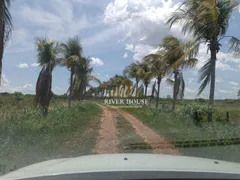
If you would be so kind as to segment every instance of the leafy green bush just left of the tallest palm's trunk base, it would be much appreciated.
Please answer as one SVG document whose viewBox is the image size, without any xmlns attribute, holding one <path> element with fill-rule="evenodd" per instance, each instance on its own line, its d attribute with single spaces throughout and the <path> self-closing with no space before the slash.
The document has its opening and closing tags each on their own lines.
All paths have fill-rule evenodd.
<svg viewBox="0 0 240 180">
<path fill-rule="evenodd" d="M 197 103 L 188 103 L 180 109 L 180 113 L 191 117 L 196 125 L 205 120 L 207 112 L 208 106 Z"/>
</svg>

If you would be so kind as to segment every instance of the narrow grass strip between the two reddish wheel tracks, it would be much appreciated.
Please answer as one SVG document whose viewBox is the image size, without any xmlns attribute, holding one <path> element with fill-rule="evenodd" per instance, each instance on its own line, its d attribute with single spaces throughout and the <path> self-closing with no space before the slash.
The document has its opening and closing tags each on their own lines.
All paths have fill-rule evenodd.
<svg viewBox="0 0 240 180">
<path fill-rule="evenodd" d="M 118 149 L 121 153 L 151 153 L 144 140 L 136 134 L 132 125 L 121 115 L 117 114 Z M 148 149 L 146 149 L 148 148 Z"/>
</svg>

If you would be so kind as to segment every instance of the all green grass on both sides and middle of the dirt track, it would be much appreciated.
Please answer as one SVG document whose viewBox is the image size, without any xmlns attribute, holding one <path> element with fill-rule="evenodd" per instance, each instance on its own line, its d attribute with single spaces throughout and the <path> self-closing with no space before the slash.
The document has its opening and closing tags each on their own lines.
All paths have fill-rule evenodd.
<svg viewBox="0 0 240 180">
<path fill-rule="evenodd" d="M 30 95 L 0 95 L 0 170 L 5 173 L 16 165 L 20 168 L 32 163 L 62 157 L 92 154 L 100 124 L 100 108 L 94 103 L 103 100 L 74 102 L 67 107 L 66 97 L 55 96 L 44 118 L 34 106 Z M 151 102 L 154 106 L 154 102 Z M 158 110 L 154 108 L 126 108 L 144 124 L 171 142 L 240 138 L 240 102 L 223 100 L 215 102 L 214 122 L 195 125 L 181 109 L 194 103 L 206 106 L 207 102 L 185 100 L 177 103 L 176 113 L 171 113 L 169 100 Z M 194 105 L 194 106 L 195 106 Z M 225 113 L 230 113 L 226 122 Z M 220 117 L 220 118 L 219 118 Z M 206 117 L 204 117 L 206 118 Z M 118 149 L 121 153 L 149 153 L 151 149 L 128 149 L 132 143 L 144 145 L 129 122 L 121 114 L 116 116 Z M 147 145 L 146 145 L 147 146 Z M 240 162 L 240 145 L 179 148 L 183 155 Z"/>
</svg>

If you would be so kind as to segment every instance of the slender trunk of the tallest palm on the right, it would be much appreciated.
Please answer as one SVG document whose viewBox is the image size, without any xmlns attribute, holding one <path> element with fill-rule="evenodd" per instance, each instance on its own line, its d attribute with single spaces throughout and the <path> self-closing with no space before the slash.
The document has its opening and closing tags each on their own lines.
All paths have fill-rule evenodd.
<svg viewBox="0 0 240 180">
<path fill-rule="evenodd" d="M 217 43 L 213 43 L 211 49 L 211 82 L 210 82 L 210 94 L 209 94 L 209 107 L 212 108 L 214 103 L 214 92 L 215 92 L 215 77 L 216 77 L 216 60 L 217 60 Z M 212 113 L 208 113 L 208 121 L 212 121 Z"/>
</svg>

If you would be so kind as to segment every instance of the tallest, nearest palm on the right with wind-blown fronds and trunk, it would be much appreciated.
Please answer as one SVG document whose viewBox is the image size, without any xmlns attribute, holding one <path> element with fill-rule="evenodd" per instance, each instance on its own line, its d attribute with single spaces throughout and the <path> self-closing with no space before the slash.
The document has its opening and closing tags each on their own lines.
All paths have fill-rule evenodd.
<svg viewBox="0 0 240 180">
<path fill-rule="evenodd" d="M 198 43 L 205 42 L 211 52 L 210 59 L 200 69 L 199 81 L 202 82 L 199 94 L 210 83 L 209 105 L 212 107 L 215 92 L 215 71 L 217 53 L 220 42 L 230 38 L 230 49 L 235 55 L 240 53 L 240 40 L 233 36 L 226 36 L 229 20 L 234 10 L 239 7 L 238 0 L 185 0 L 168 20 L 170 27 L 175 23 L 182 24 L 182 31 L 193 34 Z M 212 114 L 209 114 L 212 121 Z"/>
</svg>

